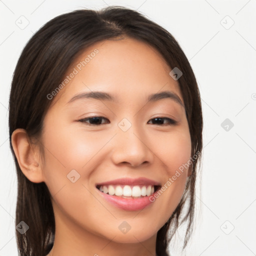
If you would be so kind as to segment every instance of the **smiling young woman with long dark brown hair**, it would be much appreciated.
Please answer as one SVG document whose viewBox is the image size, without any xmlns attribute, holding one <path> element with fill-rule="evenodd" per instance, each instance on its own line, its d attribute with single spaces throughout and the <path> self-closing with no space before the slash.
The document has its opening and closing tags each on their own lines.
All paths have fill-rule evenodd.
<svg viewBox="0 0 256 256">
<path fill-rule="evenodd" d="M 47 22 L 16 65 L 9 134 L 20 255 L 169 255 L 185 220 L 186 246 L 201 104 L 161 26 L 119 6 Z"/>
</svg>

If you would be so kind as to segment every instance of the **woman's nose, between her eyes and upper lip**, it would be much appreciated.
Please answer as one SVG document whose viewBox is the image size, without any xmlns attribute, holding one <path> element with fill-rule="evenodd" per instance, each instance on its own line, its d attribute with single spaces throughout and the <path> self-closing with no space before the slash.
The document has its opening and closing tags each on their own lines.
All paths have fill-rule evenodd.
<svg viewBox="0 0 256 256">
<path fill-rule="evenodd" d="M 127 131 L 118 130 L 113 143 L 111 159 L 114 164 L 127 164 L 137 167 L 153 161 L 148 136 L 132 125 Z"/>
</svg>

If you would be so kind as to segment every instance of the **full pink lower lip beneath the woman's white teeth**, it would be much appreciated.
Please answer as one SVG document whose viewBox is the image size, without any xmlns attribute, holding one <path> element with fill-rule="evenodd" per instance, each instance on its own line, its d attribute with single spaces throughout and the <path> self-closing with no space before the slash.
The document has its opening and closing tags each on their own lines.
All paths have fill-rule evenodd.
<svg viewBox="0 0 256 256">
<path fill-rule="evenodd" d="M 149 205 L 150 203 L 152 203 L 149 200 L 149 196 L 144 196 L 141 198 L 122 198 L 122 197 L 116 196 L 116 195 L 105 194 L 99 190 L 98 190 L 98 192 L 108 202 L 112 203 L 114 206 L 116 206 L 120 209 L 123 209 L 123 210 L 141 210 L 141 209 L 145 208 L 147 205 Z M 150 196 L 153 196 L 153 194 Z"/>
</svg>

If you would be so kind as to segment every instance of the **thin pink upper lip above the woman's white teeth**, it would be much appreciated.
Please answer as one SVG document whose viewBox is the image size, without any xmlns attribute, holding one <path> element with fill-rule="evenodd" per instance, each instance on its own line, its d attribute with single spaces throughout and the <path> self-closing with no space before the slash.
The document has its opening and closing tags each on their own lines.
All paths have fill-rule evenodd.
<svg viewBox="0 0 256 256">
<path fill-rule="evenodd" d="M 145 178 L 145 177 L 139 177 L 139 178 L 117 178 L 109 181 L 104 181 L 97 183 L 97 185 L 155 185 L 155 186 L 160 186 L 160 182 Z"/>
</svg>

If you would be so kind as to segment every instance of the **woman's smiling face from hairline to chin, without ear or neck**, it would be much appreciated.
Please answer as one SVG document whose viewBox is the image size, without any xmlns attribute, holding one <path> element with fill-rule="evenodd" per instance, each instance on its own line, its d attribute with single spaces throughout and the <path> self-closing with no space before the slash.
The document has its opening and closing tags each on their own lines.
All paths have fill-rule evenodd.
<svg viewBox="0 0 256 256">
<path fill-rule="evenodd" d="M 188 174 L 177 170 L 191 152 L 170 70 L 155 49 L 131 38 L 98 42 L 74 61 L 41 135 L 56 225 L 128 243 L 156 235 L 170 217 Z M 86 94 L 95 91 L 110 96 Z M 163 91 L 169 94 L 150 100 Z"/>
</svg>

